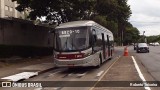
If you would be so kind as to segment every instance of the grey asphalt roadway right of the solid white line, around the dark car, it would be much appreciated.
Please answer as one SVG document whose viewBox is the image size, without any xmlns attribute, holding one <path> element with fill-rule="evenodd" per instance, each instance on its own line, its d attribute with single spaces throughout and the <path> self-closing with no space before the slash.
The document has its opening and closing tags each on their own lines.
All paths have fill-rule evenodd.
<svg viewBox="0 0 160 90">
<path fill-rule="evenodd" d="M 156 81 L 160 81 L 160 46 L 149 46 L 149 49 L 149 53 L 136 53 L 133 47 L 130 47 L 129 51 L 137 56 Z"/>
</svg>

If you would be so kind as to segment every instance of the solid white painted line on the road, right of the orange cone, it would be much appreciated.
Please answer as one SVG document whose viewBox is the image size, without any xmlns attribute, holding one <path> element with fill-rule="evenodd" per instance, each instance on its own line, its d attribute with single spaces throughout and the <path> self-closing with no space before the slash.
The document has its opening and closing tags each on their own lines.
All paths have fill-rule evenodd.
<svg viewBox="0 0 160 90">
<path fill-rule="evenodd" d="M 135 67 L 136 67 L 136 70 L 137 70 L 137 72 L 138 72 L 138 74 L 139 74 L 139 77 L 142 79 L 142 81 L 143 81 L 144 83 L 147 83 L 147 82 L 146 82 L 146 79 L 144 78 L 144 76 L 143 76 L 143 74 L 142 74 L 142 72 L 141 72 L 141 70 L 140 70 L 140 68 L 139 68 L 139 66 L 138 66 L 138 64 L 137 64 L 137 62 L 136 62 L 136 60 L 135 60 L 135 58 L 134 58 L 133 56 L 132 56 L 132 60 L 133 60 L 133 62 L 134 62 L 134 65 L 135 65 Z M 151 90 L 150 87 L 144 86 L 144 88 L 145 88 L 146 90 Z"/>
</svg>

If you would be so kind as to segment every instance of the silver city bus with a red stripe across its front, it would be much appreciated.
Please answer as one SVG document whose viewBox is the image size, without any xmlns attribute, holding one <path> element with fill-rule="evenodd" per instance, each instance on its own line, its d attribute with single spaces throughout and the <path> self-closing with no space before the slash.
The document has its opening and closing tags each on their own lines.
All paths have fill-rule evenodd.
<svg viewBox="0 0 160 90">
<path fill-rule="evenodd" d="M 112 58 L 113 34 L 94 21 L 63 23 L 53 32 L 56 67 L 100 66 Z"/>
</svg>

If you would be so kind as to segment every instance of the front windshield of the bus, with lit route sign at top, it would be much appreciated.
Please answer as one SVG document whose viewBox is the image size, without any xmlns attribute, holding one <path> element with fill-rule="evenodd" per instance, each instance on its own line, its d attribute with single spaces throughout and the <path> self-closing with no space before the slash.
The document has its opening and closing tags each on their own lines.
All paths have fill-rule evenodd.
<svg viewBox="0 0 160 90">
<path fill-rule="evenodd" d="M 57 51 L 79 51 L 89 47 L 89 29 L 74 27 L 57 29 L 54 48 Z M 88 36 L 88 37 L 87 37 Z"/>
</svg>

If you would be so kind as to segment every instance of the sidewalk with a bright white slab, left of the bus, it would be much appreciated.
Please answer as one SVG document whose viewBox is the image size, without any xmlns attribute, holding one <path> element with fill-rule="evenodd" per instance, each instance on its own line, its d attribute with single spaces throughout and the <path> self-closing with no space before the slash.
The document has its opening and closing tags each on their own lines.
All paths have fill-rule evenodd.
<svg viewBox="0 0 160 90">
<path fill-rule="evenodd" d="M 10 63 L 0 68 L 0 81 L 19 81 L 27 79 L 54 68 L 52 57 L 23 60 L 21 63 Z M 10 77 L 8 77 L 10 76 Z"/>
</svg>

